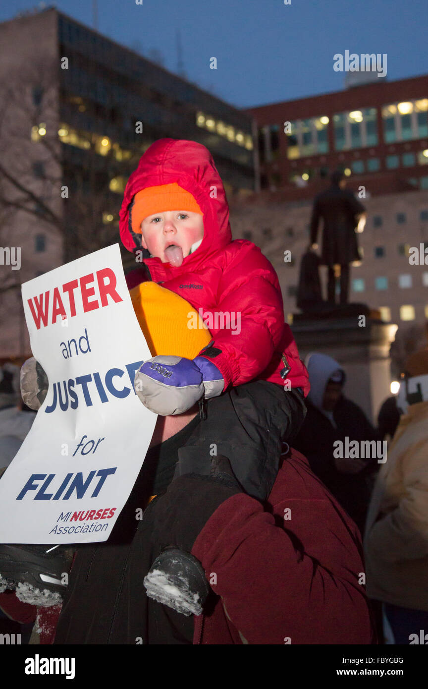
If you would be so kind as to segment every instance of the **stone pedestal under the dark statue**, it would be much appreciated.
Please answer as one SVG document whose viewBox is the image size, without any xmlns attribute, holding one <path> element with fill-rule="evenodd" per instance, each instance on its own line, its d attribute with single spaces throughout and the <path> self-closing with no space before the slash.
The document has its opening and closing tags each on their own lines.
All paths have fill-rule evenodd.
<svg viewBox="0 0 428 689">
<path fill-rule="evenodd" d="M 367 313 L 367 307 L 365 311 L 356 310 Z M 359 326 L 359 320 L 359 316 L 306 318 L 300 314 L 295 317 L 292 331 L 301 359 L 317 351 L 341 364 L 346 373 L 346 397 L 376 425 L 381 404 L 391 395 L 389 347 L 398 326 L 367 315 L 364 326 Z"/>
</svg>

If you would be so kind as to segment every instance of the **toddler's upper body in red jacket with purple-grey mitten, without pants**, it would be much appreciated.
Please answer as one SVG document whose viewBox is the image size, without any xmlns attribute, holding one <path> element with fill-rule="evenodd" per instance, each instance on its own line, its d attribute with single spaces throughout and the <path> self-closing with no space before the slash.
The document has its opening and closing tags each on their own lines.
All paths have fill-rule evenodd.
<svg viewBox="0 0 428 689">
<path fill-rule="evenodd" d="M 128 286 L 151 279 L 175 291 L 213 336 L 192 361 L 156 356 L 142 364 L 135 385 L 146 407 L 179 414 L 255 380 L 280 385 L 284 400 L 284 391 L 308 393 L 277 275 L 253 243 L 232 241 L 224 187 L 206 147 L 171 138 L 149 147 L 125 189 L 120 236 L 144 264 L 127 276 Z M 189 328 L 197 327 L 193 320 Z M 295 421 L 283 429 L 288 436 L 299 414 Z"/>
</svg>

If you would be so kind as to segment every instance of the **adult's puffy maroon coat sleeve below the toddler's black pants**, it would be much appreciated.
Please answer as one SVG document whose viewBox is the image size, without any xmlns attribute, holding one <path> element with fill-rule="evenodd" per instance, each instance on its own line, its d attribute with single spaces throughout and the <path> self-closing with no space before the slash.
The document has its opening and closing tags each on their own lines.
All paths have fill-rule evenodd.
<svg viewBox="0 0 428 689">
<path fill-rule="evenodd" d="M 192 554 L 244 643 L 373 642 L 361 543 L 353 522 L 335 520 L 329 499 L 288 498 L 275 519 L 257 500 L 234 495 L 197 537 Z M 286 508 L 292 518 L 278 525 Z"/>
</svg>

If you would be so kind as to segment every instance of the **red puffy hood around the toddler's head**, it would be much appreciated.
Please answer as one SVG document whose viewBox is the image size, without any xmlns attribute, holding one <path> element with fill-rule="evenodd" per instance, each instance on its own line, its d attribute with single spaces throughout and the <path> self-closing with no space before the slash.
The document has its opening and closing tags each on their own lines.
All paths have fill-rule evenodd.
<svg viewBox="0 0 428 689">
<path fill-rule="evenodd" d="M 137 169 L 131 174 L 125 187 L 120 209 L 120 239 L 128 251 L 134 251 L 136 236 L 132 232 L 129 209 L 133 197 L 142 189 L 176 182 L 193 194 L 204 214 L 204 238 L 192 254 L 186 256 L 180 267 L 168 267 L 171 274 L 179 276 L 195 269 L 206 256 L 222 249 L 232 240 L 229 208 L 222 179 L 208 149 L 196 141 L 160 138 L 143 154 Z M 138 240 L 138 239 L 137 239 Z M 162 267 L 160 258 L 145 258 L 149 267 Z"/>
</svg>

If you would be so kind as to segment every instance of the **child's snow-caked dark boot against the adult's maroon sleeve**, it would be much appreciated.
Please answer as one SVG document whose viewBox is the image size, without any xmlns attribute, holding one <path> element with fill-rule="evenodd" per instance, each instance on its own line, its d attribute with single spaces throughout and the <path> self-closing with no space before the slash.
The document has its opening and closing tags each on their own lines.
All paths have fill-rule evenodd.
<svg viewBox="0 0 428 689">
<path fill-rule="evenodd" d="M 149 598 L 186 616 L 201 615 L 210 590 L 199 560 L 180 548 L 165 548 L 143 584 Z"/>
</svg>

